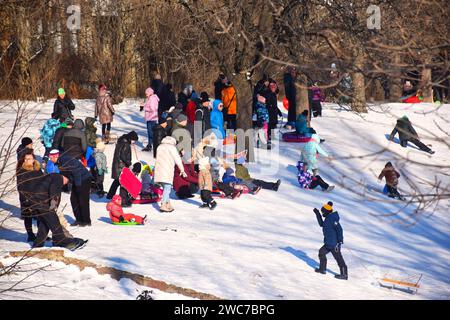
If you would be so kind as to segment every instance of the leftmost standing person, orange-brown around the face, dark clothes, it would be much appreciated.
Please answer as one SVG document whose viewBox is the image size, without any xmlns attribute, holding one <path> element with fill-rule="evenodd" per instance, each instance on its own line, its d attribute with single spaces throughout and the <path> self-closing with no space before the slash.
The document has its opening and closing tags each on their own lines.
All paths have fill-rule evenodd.
<svg viewBox="0 0 450 320">
<path fill-rule="evenodd" d="M 20 217 L 24 221 L 25 230 L 28 235 L 28 242 L 36 240 L 36 236 L 33 233 L 33 207 L 31 205 L 31 194 L 26 190 L 32 190 L 28 188 L 29 185 L 35 185 L 36 181 L 43 176 L 39 162 L 36 161 L 33 154 L 33 149 L 25 149 L 22 156 L 17 162 L 16 168 L 16 181 L 17 190 L 19 192 L 20 202 Z"/>
</svg>

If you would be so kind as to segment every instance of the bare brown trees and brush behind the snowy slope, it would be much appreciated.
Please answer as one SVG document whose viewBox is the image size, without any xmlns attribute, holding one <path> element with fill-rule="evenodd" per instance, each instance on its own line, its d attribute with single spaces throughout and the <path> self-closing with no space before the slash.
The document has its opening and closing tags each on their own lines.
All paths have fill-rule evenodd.
<svg viewBox="0 0 450 320">
<path fill-rule="evenodd" d="M 69 28 L 74 5 L 79 27 Z M 448 12 L 445 0 L 4 0 L 0 98 L 51 98 L 60 86 L 93 98 L 99 83 L 119 99 L 143 96 L 155 74 L 175 90 L 191 83 L 211 93 L 222 72 L 246 129 L 256 82 L 268 74 L 282 89 L 286 67 L 296 66 L 298 112 L 315 82 L 336 93 L 349 81 L 357 112 L 367 100 L 399 101 L 405 80 L 424 101 L 442 101 Z"/>
</svg>

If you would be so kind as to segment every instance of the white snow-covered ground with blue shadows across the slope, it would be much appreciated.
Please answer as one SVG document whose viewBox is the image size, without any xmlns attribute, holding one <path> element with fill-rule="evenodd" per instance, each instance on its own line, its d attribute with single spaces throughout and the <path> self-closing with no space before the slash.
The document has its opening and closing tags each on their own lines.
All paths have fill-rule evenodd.
<svg viewBox="0 0 450 320">
<path fill-rule="evenodd" d="M 75 116 L 93 115 L 94 101 L 74 102 Z M 52 106 L 52 102 L 28 106 L 28 121 L 33 123 L 26 135 L 36 139 L 38 154 L 43 154 L 37 141 L 38 130 L 49 118 Z M 138 132 L 139 160 L 154 163 L 151 153 L 140 151 L 147 138 L 143 114 L 137 106 L 133 100 L 117 106 L 112 132 L 117 135 L 130 130 Z M 377 192 L 364 192 L 362 185 L 381 190 L 383 185 L 377 183 L 376 176 L 386 161 L 392 161 L 402 173 L 401 192 L 413 192 L 405 178 L 408 177 L 422 193 L 435 193 L 432 185 L 438 180 L 441 181 L 438 191 L 447 189 L 448 194 L 450 105 L 385 104 L 373 106 L 368 114 L 360 116 L 325 104 L 323 114 L 322 118 L 313 119 L 312 126 L 326 140 L 323 148 L 334 158 L 331 162 L 319 160 L 322 177 L 336 185 L 332 193 L 300 189 L 295 167 L 300 145 L 275 141 L 274 150 L 257 151 L 257 163 L 249 168 L 253 177 L 281 179 L 278 192 L 261 190 L 256 196 L 219 199 L 214 211 L 198 209 L 199 196 L 190 200 L 174 198 L 172 213 L 160 213 L 152 204 L 133 205 L 125 211 L 147 214 L 149 222 L 130 227 L 111 225 L 105 209 L 107 200 L 92 195 L 92 227 L 69 229 L 74 236 L 89 239 L 87 246 L 74 255 L 225 299 L 449 299 L 448 198 L 415 213 L 417 203 L 388 200 Z M 424 143 L 432 144 L 434 155 L 414 147 L 405 149 L 387 140 L 386 134 L 402 115 L 410 118 Z M 12 120 L 13 116 L 12 110 L 2 110 L 0 115 L 1 120 Z M 4 123 L 2 131 L 6 132 L 11 123 Z M 18 137 L 23 130 L 25 127 L 17 130 Z M 114 145 L 108 145 L 109 164 L 113 151 Z M 135 157 L 133 152 L 133 161 Z M 110 182 L 107 177 L 105 188 Z M 338 268 L 331 255 L 330 272 L 327 275 L 314 272 L 323 237 L 312 209 L 330 200 L 344 229 L 343 256 L 349 268 L 348 281 L 334 279 Z M 63 194 L 61 207 L 66 203 L 64 213 L 72 222 L 69 196 Z M 11 214 L 0 228 L 0 256 L 28 249 L 23 222 L 18 218 L 17 194 L 0 199 L 0 208 Z M 57 271 L 58 276 L 41 273 L 36 282 L 56 279 L 57 283 L 61 279 L 64 286 L 79 289 L 75 296 L 59 292 L 54 298 L 100 298 L 94 294 L 100 291 L 105 299 L 137 295 L 137 285 L 122 281 L 113 285 L 111 282 L 115 280 L 91 277 L 89 271 L 79 272 L 82 280 L 73 281 L 71 267 L 54 267 L 62 268 Z M 87 276 L 83 278 L 84 273 Z M 376 279 L 386 273 L 401 277 L 423 274 L 418 294 L 380 288 Z M 102 284 L 98 285 L 99 282 Z M 109 286 L 111 289 L 107 290 Z M 92 294 L 86 293 L 89 288 L 95 289 Z"/>
</svg>

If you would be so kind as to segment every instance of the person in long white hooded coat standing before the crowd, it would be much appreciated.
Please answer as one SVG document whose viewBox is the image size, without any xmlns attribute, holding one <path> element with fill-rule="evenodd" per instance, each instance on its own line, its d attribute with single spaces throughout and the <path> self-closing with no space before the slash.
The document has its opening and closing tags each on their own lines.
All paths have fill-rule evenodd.
<svg viewBox="0 0 450 320">
<path fill-rule="evenodd" d="M 177 151 L 175 138 L 165 137 L 156 150 L 155 182 L 163 187 L 161 201 L 161 212 L 172 212 L 174 209 L 170 204 L 170 192 L 172 191 L 174 167 L 178 166 L 180 175 L 187 177 L 184 172 L 183 161 Z"/>
</svg>

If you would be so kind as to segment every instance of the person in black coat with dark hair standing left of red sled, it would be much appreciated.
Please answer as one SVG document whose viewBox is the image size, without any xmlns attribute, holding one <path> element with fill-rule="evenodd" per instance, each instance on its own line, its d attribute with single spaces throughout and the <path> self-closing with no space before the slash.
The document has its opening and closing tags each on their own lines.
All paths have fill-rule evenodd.
<svg viewBox="0 0 450 320">
<path fill-rule="evenodd" d="M 131 206 L 131 197 L 128 191 L 120 185 L 119 177 L 123 168 L 129 168 L 132 165 L 131 144 L 138 141 L 138 135 L 135 131 L 124 134 L 117 140 L 116 148 L 114 149 L 114 158 L 112 162 L 111 178 L 114 179 L 109 188 L 107 199 L 112 199 L 116 194 L 117 188 L 120 186 L 120 197 L 122 198 L 122 207 Z"/>
</svg>

